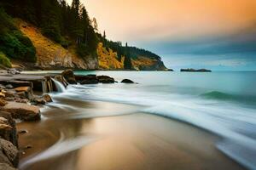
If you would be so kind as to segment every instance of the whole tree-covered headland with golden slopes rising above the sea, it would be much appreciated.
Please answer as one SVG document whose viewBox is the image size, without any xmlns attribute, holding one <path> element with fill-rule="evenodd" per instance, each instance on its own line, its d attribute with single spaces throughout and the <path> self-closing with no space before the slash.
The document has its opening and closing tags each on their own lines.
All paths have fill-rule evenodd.
<svg viewBox="0 0 256 170">
<path fill-rule="evenodd" d="M 57 65 L 60 68 L 97 69 L 95 63 L 90 66 L 87 62 L 98 59 L 99 69 L 166 69 L 160 56 L 108 40 L 105 31 L 99 33 L 96 19 L 90 19 L 79 0 L 71 4 L 65 0 L 1 0 L 0 21 L 0 62 L 5 66 L 10 66 L 9 59 L 25 59 L 42 69 L 54 69 L 54 64 L 63 60 Z M 100 47 L 102 53 L 98 53 Z M 152 62 L 143 63 L 144 59 Z"/>
</svg>

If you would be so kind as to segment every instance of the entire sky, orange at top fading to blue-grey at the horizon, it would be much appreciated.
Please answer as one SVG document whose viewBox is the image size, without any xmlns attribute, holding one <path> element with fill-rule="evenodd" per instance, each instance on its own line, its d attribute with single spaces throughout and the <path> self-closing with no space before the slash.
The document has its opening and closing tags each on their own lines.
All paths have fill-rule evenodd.
<svg viewBox="0 0 256 170">
<path fill-rule="evenodd" d="M 171 68 L 256 70 L 256 0 L 81 0 L 109 39 Z"/>
</svg>

